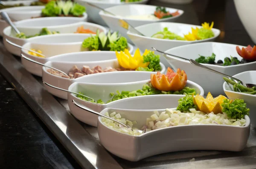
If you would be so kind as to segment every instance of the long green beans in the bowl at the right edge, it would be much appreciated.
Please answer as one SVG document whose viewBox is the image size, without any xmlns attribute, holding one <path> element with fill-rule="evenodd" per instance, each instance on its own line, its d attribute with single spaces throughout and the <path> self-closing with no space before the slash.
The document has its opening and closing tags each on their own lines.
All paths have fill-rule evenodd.
<svg viewBox="0 0 256 169">
<path fill-rule="evenodd" d="M 230 80 L 226 77 L 223 77 L 223 79 L 230 85 L 233 85 L 233 91 L 234 92 L 241 92 L 246 93 L 249 95 L 256 95 L 256 87 L 253 86 L 252 88 L 245 87 L 241 85 L 240 83 L 236 83 L 234 80 Z"/>
</svg>

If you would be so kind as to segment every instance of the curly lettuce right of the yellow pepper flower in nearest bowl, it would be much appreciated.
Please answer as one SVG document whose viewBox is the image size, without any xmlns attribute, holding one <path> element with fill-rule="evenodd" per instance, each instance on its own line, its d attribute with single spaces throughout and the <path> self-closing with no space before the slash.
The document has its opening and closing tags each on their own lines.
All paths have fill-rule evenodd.
<svg viewBox="0 0 256 169">
<path fill-rule="evenodd" d="M 232 119 L 244 118 L 245 115 L 249 115 L 250 111 L 242 99 L 235 99 L 232 103 L 230 103 L 229 99 L 225 99 L 221 106 L 223 107 L 222 112 Z"/>
</svg>

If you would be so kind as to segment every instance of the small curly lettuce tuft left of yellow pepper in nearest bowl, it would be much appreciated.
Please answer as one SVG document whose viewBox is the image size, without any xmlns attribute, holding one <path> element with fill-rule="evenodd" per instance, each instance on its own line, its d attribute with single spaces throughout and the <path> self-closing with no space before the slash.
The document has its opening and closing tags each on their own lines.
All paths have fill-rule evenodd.
<svg viewBox="0 0 256 169">
<path fill-rule="evenodd" d="M 189 112 L 189 109 L 197 109 L 197 106 L 194 104 L 193 96 L 187 95 L 178 100 L 179 105 L 177 110 L 180 112 Z"/>
</svg>

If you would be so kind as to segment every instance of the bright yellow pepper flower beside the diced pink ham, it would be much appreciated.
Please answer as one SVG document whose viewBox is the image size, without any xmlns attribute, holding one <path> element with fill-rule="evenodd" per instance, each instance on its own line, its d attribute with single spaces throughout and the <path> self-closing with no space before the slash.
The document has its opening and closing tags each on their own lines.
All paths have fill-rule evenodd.
<svg viewBox="0 0 256 169">
<path fill-rule="evenodd" d="M 143 55 L 147 55 L 150 50 L 145 50 Z M 118 63 L 120 66 L 122 66 L 125 69 L 137 69 L 138 67 L 148 67 L 148 63 L 143 63 L 143 55 L 140 54 L 140 49 L 137 49 L 134 53 L 134 56 L 132 57 L 129 53 L 128 49 L 125 49 L 125 52 L 118 53 L 116 51 L 116 58 L 118 60 Z"/>
</svg>

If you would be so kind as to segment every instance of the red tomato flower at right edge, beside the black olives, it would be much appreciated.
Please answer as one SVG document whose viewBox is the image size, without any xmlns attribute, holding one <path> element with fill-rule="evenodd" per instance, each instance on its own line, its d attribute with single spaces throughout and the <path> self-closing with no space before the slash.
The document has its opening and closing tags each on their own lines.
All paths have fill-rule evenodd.
<svg viewBox="0 0 256 169">
<path fill-rule="evenodd" d="M 236 52 L 246 60 L 256 60 L 256 46 L 253 47 L 248 45 L 246 48 L 242 47 L 242 50 L 239 46 L 236 46 Z"/>
</svg>

